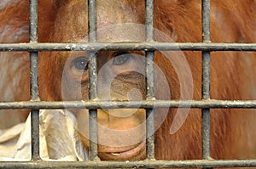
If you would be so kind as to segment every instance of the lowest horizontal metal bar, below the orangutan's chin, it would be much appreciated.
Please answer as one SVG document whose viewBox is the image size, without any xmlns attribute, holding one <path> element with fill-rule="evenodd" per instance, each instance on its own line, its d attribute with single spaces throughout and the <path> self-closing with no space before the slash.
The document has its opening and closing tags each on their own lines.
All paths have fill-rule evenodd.
<svg viewBox="0 0 256 169">
<path fill-rule="evenodd" d="M 191 160 L 191 161 L 37 161 L 0 162 L 0 168 L 210 168 L 255 167 L 256 160 Z"/>
</svg>

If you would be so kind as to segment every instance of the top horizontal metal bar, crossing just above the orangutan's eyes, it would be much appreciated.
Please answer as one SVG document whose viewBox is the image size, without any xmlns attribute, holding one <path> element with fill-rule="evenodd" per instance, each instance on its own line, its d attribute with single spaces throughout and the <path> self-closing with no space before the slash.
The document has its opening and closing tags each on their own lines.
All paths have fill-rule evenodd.
<svg viewBox="0 0 256 169">
<path fill-rule="evenodd" d="M 2 43 L 4 51 L 82 51 L 82 50 L 162 50 L 162 51 L 256 51 L 256 43 L 216 42 L 131 42 L 131 43 Z"/>
</svg>

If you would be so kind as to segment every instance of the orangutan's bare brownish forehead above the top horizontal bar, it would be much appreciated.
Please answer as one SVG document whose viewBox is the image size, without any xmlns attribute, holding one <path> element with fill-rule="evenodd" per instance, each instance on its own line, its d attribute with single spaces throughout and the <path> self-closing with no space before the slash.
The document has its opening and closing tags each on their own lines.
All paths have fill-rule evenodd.
<svg viewBox="0 0 256 169">
<path fill-rule="evenodd" d="M 96 34 L 98 42 L 143 42 L 144 11 L 137 11 L 127 1 L 109 3 L 96 1 Z M 81 10 L 81 8 L 84 8 Z M 66 20 L 63 20 L 63 17 Z M 88 4 L 84 0 L 70 1 L 60 8 L 56 25 L 61 42 L 88 42 Z"/>
</svg>

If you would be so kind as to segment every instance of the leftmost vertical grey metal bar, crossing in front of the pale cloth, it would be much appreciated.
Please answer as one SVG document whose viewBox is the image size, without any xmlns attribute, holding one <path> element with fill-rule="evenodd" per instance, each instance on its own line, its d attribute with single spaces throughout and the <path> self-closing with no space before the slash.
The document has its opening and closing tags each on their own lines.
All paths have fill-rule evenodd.
<svg viewBox="0 0 256 169">
<path fill-rule="evenodd" d="M 38 1 L 29 1 L 29 38 L 38 42 Z M 31 100 L 38 101 L 38 53 L 30 53 Z M 40 160 L 39 154 L 39 110 L 31 110 L 32 161 Z"/>
</svg>

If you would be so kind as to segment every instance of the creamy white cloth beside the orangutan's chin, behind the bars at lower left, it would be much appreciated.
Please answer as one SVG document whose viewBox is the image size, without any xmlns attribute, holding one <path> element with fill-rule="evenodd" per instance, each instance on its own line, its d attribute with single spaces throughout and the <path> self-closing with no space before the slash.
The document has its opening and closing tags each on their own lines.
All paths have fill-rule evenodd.
<svg viewBox="0 0 256 169">
<path fill-rule="evenodd" d="M 40 156 L 44 161 L 86 161 L 75 116 L 68 110 L 40 110 Z M 0 130 L 0 161 L 31 160 L 31 118 Z"/>
</svg>

